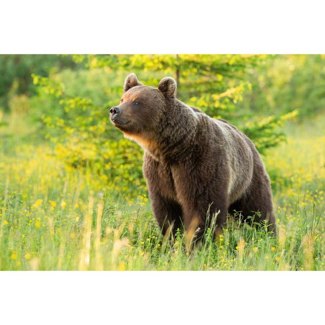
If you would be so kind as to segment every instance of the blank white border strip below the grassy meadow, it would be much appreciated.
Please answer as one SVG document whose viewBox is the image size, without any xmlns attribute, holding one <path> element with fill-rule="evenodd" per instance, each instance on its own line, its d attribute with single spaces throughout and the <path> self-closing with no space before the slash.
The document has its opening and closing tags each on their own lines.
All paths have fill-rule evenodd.
<svg viewBox="0 0 325 325">
<path fill-rule="evenodd" d="M 2 272 L 1 323 L 315 324 L 323 272 Z"/>
</svg>

